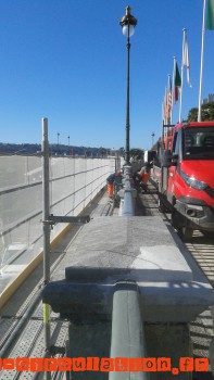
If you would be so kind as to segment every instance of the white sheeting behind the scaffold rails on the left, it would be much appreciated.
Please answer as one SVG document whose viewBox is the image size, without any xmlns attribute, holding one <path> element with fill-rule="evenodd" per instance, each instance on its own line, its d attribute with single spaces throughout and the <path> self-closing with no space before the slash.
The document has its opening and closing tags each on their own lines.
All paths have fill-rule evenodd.
<svg viewBox="0 0 214 380">
<path fill-rule="evenodd" d="M 115 157 L 50 157 L 50 210 L 78 215 L 115 172 Z M 22 256 L 29 263 L 42 250 L 42 167 L 39 156 L 1 156 L 0 270 Z M 64 224 L 51 230 L 53 240 Z M 0 277 L 0 281 L 1 281 Z"/>
</svg>

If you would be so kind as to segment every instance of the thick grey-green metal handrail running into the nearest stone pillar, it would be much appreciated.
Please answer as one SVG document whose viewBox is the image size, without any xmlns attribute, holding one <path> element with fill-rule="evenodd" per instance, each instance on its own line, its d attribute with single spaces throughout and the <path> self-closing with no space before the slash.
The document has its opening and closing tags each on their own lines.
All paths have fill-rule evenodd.
<svg viewBox="0 0 214 380">
<path fill-rule="evenodd" d="M 110 356 L 111 358 L 121 357 L 125 359 L 146 357 L 138 286 L 134 281 L 121 281 L 115 287 Z M 124 367 L 124 363 L 121 365 Z M 109 380 L 124 379 L 147 380 L 148 376 L 147 372 L 141 370 L 134 371 L 128 365 L 125 371 L 115 370 L 110 372 Z"/>
</svg>

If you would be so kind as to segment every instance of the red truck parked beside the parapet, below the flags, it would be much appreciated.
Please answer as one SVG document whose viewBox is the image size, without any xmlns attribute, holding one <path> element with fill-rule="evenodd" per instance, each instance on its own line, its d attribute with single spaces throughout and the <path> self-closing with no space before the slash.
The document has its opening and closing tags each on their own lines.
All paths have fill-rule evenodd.
<svg viewBox="0 0 214 380">
<path fill-rule="evenodd" d="M 214 122 L 163 126 L 151 179 L 184 239 L 214 231 Z"/>
</svg>

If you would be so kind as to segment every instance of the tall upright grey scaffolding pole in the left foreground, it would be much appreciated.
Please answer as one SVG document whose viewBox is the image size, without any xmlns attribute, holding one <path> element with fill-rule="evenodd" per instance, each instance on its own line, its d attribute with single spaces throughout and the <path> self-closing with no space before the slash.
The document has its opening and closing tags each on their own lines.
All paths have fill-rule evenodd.
<svg viewBox="0 0 214 380">
<path fill-rule="evenodd" d="M 42 125 L 42 223 L 43 223 L 43 283 L 50 281 L 50 201 L 49 201 L 49 142 L 48 142 L 48 118 L 41 119 Z M 43 330 L 45 350 L 48 356 L 50 349 L 50 306 L 43 304 Z M 51 379 L 51 373 L 46 372 L 46 380 Z"/>
</svg>

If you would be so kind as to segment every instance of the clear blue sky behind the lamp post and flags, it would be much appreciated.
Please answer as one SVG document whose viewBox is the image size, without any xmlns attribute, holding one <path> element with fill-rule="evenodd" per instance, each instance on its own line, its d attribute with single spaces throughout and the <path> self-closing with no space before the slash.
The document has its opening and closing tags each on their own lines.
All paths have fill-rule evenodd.
<svg viewBox="0 0 214 380">
<path fill-rule="evenodd" d="M 125 143 L 126 38 L 131 7 L 130 147 L 149 149 L 161 132 L 173 56 L 181 64 L 187 28 L 192 88 L 182 116 L 198 106 L 203 0 L 0 0 L 0 141 L 119 148 Z M 206 31 L 203 98 L 214 92 L 214 31 Z M 178 121 L 178 107 L 174 119 Z"/>
</svg>

